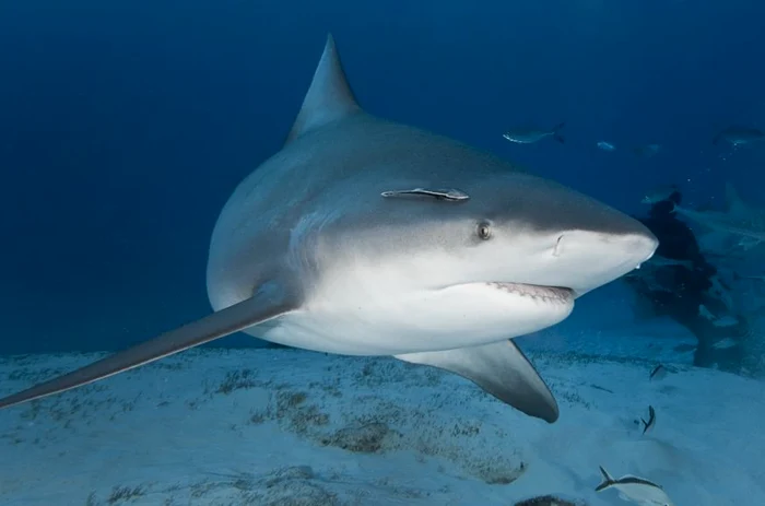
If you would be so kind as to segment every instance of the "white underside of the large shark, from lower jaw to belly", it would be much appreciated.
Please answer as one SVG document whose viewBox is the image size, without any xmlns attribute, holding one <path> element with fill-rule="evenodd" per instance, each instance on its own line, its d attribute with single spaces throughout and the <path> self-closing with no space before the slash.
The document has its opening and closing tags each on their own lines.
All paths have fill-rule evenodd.
<svg viewBox="0 0 765 506">
<path fill-rule="evenodd" d="M 317 297 L 247 333 L 295 348 L 398 355 L 496 342 L 565 319 L 573 297 L 556 289 L 470 283 L 396 297 Z"/>
</svg>

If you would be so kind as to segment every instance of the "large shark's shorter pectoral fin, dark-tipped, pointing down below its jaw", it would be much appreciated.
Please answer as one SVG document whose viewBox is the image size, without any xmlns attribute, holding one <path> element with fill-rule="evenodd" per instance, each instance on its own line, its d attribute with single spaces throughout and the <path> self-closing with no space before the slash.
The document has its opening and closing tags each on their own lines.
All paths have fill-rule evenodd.
<svg viewBox="0 0 765 506">
<path fill-rule="evenodd" d="M 557 420 L 555 398 L 534 366 L 510 340 L 440 352 L 409 353 L 396 355 L 396 358 L 458 374 L 530 416 L 549 423 Z"/>
</svg>

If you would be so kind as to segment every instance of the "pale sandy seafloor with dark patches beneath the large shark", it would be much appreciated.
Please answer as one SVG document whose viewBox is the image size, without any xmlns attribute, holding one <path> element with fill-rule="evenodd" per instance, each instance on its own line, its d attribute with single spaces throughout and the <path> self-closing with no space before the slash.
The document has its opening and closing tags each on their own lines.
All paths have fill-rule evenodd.
<svg viewBox="0 0 765 506">
<path fill-rule="evenodd" d="M 765 384 L 691 367 L 676 339 L 599 339 L 615 356 L 525 346 L 561 404 L 552 425 L 393 358 L 192 350 L 0 411 L 0 504 L 627 504 L 595 492 L 603 466 L 678 506 L 765 505 Z M 4 358 L 0 393 L 98 356 Z M 657 361 L 675 372 L 649 380 Z"/>
</svg>

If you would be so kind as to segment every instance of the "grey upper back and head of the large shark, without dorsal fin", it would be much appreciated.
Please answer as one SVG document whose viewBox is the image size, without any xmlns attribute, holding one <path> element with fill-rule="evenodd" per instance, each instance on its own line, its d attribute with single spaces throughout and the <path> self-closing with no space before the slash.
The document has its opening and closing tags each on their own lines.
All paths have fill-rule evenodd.
<svg viewBox="0 0 765 506">
<path fill-rule="evenodd" d="M 495 185 L 507 187 L 510 178 L 513 191 L 498 202 Z M 380 197 L 417 187 L 460 189 L 470 201 L 440 205 Z M 491 153 L 360 109 L 293 137 L 238 186 L 213 232 L 208 292 L 220 309 L 274 278 L 291 280 L 299 291 L 320 275 L 317 261 L 338 254 L 325 251 L 317 259 L 317 242 L 340 248 L 363 231 L 369 249 L 401 251 L 413 242 L 438 240 L 438 227 L 457 215 L 492 219 L 515 209 L 519 216 L 533 214 L 541 230 L 577 227 L 581 215 L 598 230 L 623 230 L 621 213 L 584 195 L 573 207 L 574 193 Z M 543 209 L 539 202 L 545 202 Z M 424 222 L 415 236 L 407 235 L 409 224 Z"/>
</svg>

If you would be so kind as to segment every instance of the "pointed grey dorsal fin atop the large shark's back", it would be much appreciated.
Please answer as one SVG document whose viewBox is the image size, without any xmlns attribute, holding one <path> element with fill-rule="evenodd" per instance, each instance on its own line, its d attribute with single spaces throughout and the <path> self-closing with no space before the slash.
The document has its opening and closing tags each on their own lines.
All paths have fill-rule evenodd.
<svg viewBox="0 0 765 506">
<path fill-rule="evenodd" d="M 358 110 L 361 107 L 358 107 L 345 79 L 338 48 L 334 46 L 334 38 L 332 34 L 329 34 L 325 51 L 316 72 L 314 72 L 314 80 L 303 99 L 303 106 L 292 130 L 290 130 L 286 143 L 310 130 Z"/>
</svg>

